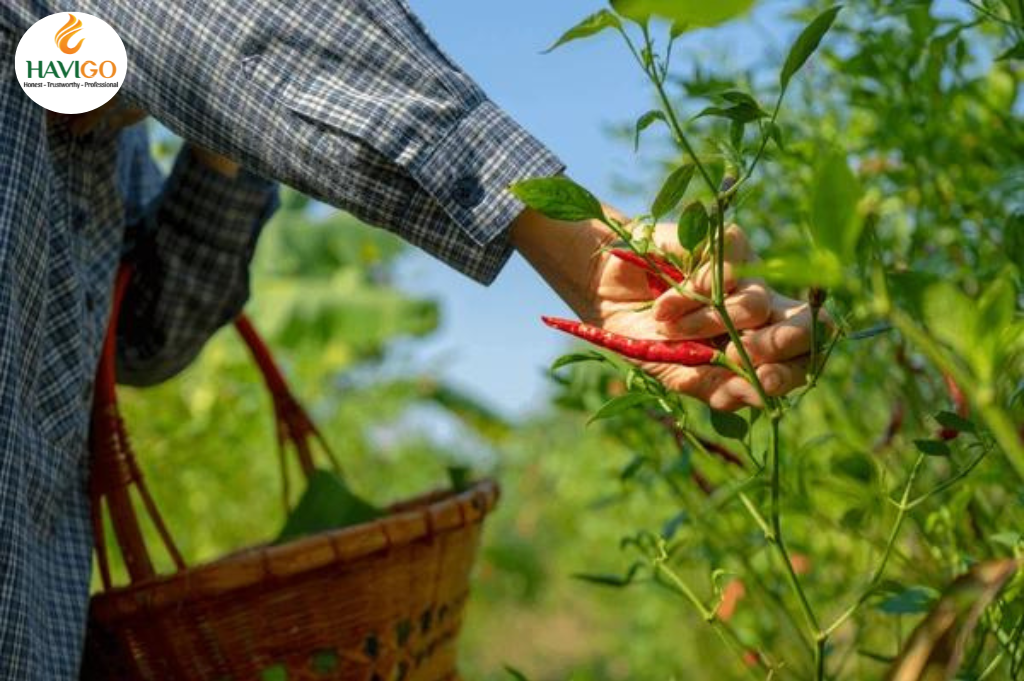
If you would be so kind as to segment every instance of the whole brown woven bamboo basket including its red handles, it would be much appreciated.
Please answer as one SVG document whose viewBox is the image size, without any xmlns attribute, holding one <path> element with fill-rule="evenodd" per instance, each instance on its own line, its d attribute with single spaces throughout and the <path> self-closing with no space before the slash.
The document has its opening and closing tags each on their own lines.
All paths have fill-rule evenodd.
<svg viewBox="0 0 1024 681">
<path fill-rule="evenodd" d="M 150 496 L 114 389 L 114 313 L 96 381 L 92 422 L 93 530 L 103 590 L 90 602 L 83 679 L 447 681 L 481 522 L 498 487 L 435 493 L 391 507 L 375 522 L 256 547 L 187 567 Z M 237 327 L 259 366 L 278 417 L 279 443 L 302 469 L 321 440 L 288 392 L 251 325 Z M 282 450 L 284 451 L 284 450 Z M 132 494 L 134 493 L 134 494 Z M 176 569 L 153 566 L 137 496 Z M 129 584 L 114 587 L 106 509 Z"/>
</svg>

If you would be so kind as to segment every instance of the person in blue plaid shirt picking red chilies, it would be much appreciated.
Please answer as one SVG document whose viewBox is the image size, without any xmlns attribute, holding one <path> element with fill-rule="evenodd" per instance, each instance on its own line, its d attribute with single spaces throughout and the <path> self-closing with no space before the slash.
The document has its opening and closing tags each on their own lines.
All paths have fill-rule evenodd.
<svg viewBox="0 0 1024 681">
<path fill-rule="evenodd" d="M 273 207 L 270 180 L 394 231 L 481 284 L 518 250 L 582 318 L 613 331 L 721 331 L 678 293 L 632 312 L 646 282 L 601 254 L 611 239 L 602 225 L 524 209 L 509 184 L 563 164 L 440 50 L 403 0 L 75 5 L 124 41 L 123 101 L 68 120 L 47 117 L 15 79 L 0 84 L 0 679 L 77 674 L 92 546 L 87 415 L 126 239 L 138 266 L 118 370 L 133 383 L 181 369 L 239 311 Z M 22 33 L 66 7 L 5 0 L 3 62 Z M 159 194 L 144 135 L 118 129 L 133 108 L 187 141 Z M 666 230 L 658 239 L 671 241 Z M 734 272 L 753 255 L 736 228 L 729 245 Z M 728 282 L 762 381 L 773 394 L 799 384 L 806 309 L 760 282 Z M 716 407 L 757 402 L 721 368 L 649 369 Z"/>
</svg>

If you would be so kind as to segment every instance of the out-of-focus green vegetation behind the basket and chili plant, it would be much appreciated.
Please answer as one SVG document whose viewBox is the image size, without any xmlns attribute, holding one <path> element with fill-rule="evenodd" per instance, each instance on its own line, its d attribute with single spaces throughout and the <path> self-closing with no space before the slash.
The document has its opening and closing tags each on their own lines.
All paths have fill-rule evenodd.
<svg viewBox="0 0 1024 681">
<path fill-rule="evenodd" d="M 794 15 L 801 23 L 824 6 L 804 4 Z M 771 153 L 763 181 L 741 198 L 740 220 L 755 244 L 784 253 L 798 241 L 814 156 L 838 141 L 867 189 L 870 238 L 892 268 L 946 278 L 969 293 L 1001 272 L 1019 282 L 1021 62 L 995 58 L 1013 47 L 1008 33 L 964 4 L 863 0 L 849 7 L 786 104 L 784 151 Z M 728 59 L 692 65 L 685 50 L 679 54 L 674 91 L 683 111 L 695 113 L 736 86 L 771 98 L 775 55 L 737 74 Z M 643 102 L 635 103 L 642 112 Z M 622 118 L 631 113 L 624 107 Z M 165 155 L 173 151 L 173 141 L 163 144 Z M 644 146 L 649 158 L 669 148 L 656 134 Z M 642 178 L 624 184 L 650 188 Z M 439 310 L 395 285 L 404 247 L 295 193 L 284 196 L 257 252 L 249 312 L 351 485 L 386 503 L 446 485 L 453 464 L 502 482 L 463 633 L 465 678 L 507 679 L 506 664 L 538 681 L 743 678 L 681 600 L 649 585 L 617 590 L 573 578 L 622 574 L 631 558 L 620 541 L 638 529 L 682 537 L 686 550 L 677 558 L 709 590 L 709 566 L 757 572 L 767 560 L 757 528 L 734 508 L 709 515 L 692 479 L 698 470 L 724 484 L 735 472 L 694 460 L 668 433 L 651 434 L 657 424 L 642 414 L 587 427 L 588 414 L 622 390 L 604 369 L 559 372 L 552 402 L 515 422 L 445 385 L 439 371 L 411 371 L 396 360 L 394 343 L 429 336 Z M 1004 370 L 1019 393 L 1021 367 Z M 212 559 L 278 533 L 284 516 L 269 400 L 232 330 L 181 376 L 123 394 L 146 477 L 187 559 Z M 814 556 L 806 569 L 822 602 L 842 603 L 869 569 L 889 526 L 882 495 L 912 461 L 911 440 L 934 429 L 931 415 L 948 409 L 945 399 L 940 377 L 889 334 L 841 345 L 814 399 L 790 419 L 790 441 L 801 443 L 787 480 L 800 491 L 785 509 L 791 541 Z M 905 426 L 883 442 L 896 405 Z M 965 445 L 949 461 L 929 462 L 926 484 L 973 453 Z M 949 496 L 915 510 L 892 566 L 900 580 L 892 594 L 932 589 L 975 560 L 1020 551 L 1024 500 L 1006 480 L 990 458 Z M 699 530 L 698 513 L 707 521 Z M 921 593 L 927 600 L 932 592 Z M 903 601 L 876 605 L 864 615 L 873 634 L 848 662 L 855 678 L 884 670 L 877 658 L 895 652 L 921 611 Z M 737 627 L 784 639 L 792 625 L 774 608 L 741 602 Z M 978 678 L 971 673 L 963 678 Z"/>
</svg>

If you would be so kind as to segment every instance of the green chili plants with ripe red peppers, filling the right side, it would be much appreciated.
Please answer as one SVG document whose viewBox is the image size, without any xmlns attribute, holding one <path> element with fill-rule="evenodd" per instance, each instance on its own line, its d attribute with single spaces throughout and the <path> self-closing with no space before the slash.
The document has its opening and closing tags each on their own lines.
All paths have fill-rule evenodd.
<svg viewBox="0 0 1024 681">
<path fill-rule="evenodd" d="M 1021 517 L 1024 481 L 1018 421 L 1024 394 L 1019 309 L 1024 220 L 996 198 L 998 185 L 1012 182 L 1013 173 L 1022 176 L 1024 146 L 1012 125 L 1016 95 L 1005 111 L 983 110 L 986 120 L 1009 122 L 1005 139 L 1013 169 L 996 177 L 994 186 L 977 190 L 995 204 L 983 215 L 976 205 L 957 201 L 955 182 L 933 176 L 942 170 L 927 160 L 941 154 L 941 145 L 932 150 L 918 139 L 921 155 L 900 159 L 901 148 L 914 148 L 914 133 L 894 140 L 895 133 L 886 139 L 885 131 L 874 129 L 871 144 L 861 150 L 846 148 L 839 135 L 820 131 L 794 139 L 798 126 L 787 126 L 784 115 L 798 74 L 834 28 L 836 39 L 847 41 L 848 56 L 834 51 L 824 58 L 853 76 L 842 82 L 856 91 L 850 95 L 853 114 L 840 116 L 855 116 L 856 97 L 873 86 L 854 70 L 866 71 L 872 60 L 886 58 L 865 48 L 870 40 L 895 42 L 886 51 L 907 55 L 906 71 L 898 77 L 909 79 L 920 71 L 921 82 L 934 90 L 931 99 L 915 101 L 921 88 L 907 82 L 878 110 L 895 117 L 903 105 L 919 116 L 922 108 L 935 108 L 934 94 L 943 88 L 953 105 L 962 99 L 971 107 L 988 104 L 959 80 L 970 60 L 965 35 L 996 35 L 1011 45 L 1002 58 L 1019 57 L 1015 50 L 1024 23 L 1015 3 L 967 3 L 971 15 L 957 20 L 936 19 L 928 2 L 826 8 L 787 50 L 768 107 L 735 80 L 695 83 L 674 73 L 673 48 L 688 29 L 714 26 L 744 11 L 751 1 L 714 8 L 612 1 L 553 46 L 616 34 L 657 103 L 640 116 L 633 132 L 639 140 L 651 126 L 664 125 L 676 154 L 648 213 L 631 220 L 607 215 L 592 194 L 567 178 L 527 180 L 513 191 L 549 217 L 599 220 L 613 230 L 618 242 L 609 257 L 643 268 L 652 297 L 670 289 L 694 297 L 684 287 L 686 278 L 710 268 L 711 296 L 696 297 L 717 311 L 727 337 L 709 344 L 652 343 L 567 321 L 546 322 L 623 357 L 725 366 L 746 379 L 763 403 L 745 415 L 708 410 L 616 354 L 588 351 L 556 361 L 556 370 L 573 366 L 568 376 L 556 374 L 565 390 L 563 403 L 590 408 L 593 396 L 601 395 L 606 401 L 592 420 L 612 424 L 608 434 L 637 453 L 622 479 L 647 476 L 666 486 L 680 507 L 659 531 L 641 529 L 623 541 L 633 559 L 622 573 L 581 577 L 610 587 L 653 583 L 681 597 L 721 639 L 723 654 L 735 655 L 737 675 L 820 681 L 887 674 L 903 680 L 952 678 L 963 668 L 964 678 L 997 673 L 1016 678 L 1024 663 L 1024 606 L 1018 598 L 1024 585 L 1017 576 L 1022 545 L 1012 530 Z M 847 14 L 853 15 L 847 19 Z M 902 28 L 886 33 L 889 19 L 906 22 L 912 38 L 906 46 L 898 44 Z M 849 27 L 843 26 L 846 20 Z M 856 33 L 857 22 L 863 23 L 863 36 Z M 675 94 L 679 84 L 690 95 L 710 98 L 710 105 L 684 117 Z M 982 115 L 971 107 L 972 115 Z M 805 104 L 804 113 L 809 109 Z M 933 125 L 916 119 L 914 124 Z M 888 154 L 868 156 L 879 152 Z M 920 166 L 919 159 L 925 160 Z M 857 171 L 851 160 L 860 162 Z M 769 161 L 776 177 L 760 185 L 759 171 Z M 951 172 L 953 166 L 945 169 Z M 793 181 L 779 182 L 783 176 Z M 792 187 L 801 186 L 805 196 L 794 196 Z M 886 191 L 906 193 L 912 210 L 887 204 Z M 729 316 L 724 268 L 727 225 L 742 222 L 744 211 L 770 223 L 772 212 L 765 207 L 781 201 L 806 210 L 796 228 L 772 230 L 777 239 L 767 259 L 745 274 L 803 292 L 812 343 L 806 385 L 772 397 Z M 790 217 L 793 211 L 780 214 Z M 683 255 L 659 249 L 652 240 L 655 225 L 670 216 L 678 219 Z M 1005 223 L 991 226 L 993 218 Z M 936 219 L 959 225 L 953 257 L 973 258 L 973 275 L 937 271 L 938 249 L 927 239 Z M 738 363 L 720 351 L 726 343 L 737 348 Z M 886 363 L 881 370 L 879 357 Z M 888 400 L 889 365 L 910 382 L 902 391 L 908 403 L 894 401 L 879 437 L 867 439 L 857 432 L 864 419 L 850 413 L 857 406 L 837 398 L 852 385 L 854 398 Z M 876 376 L 877 384 L 864 382 Z M 835 385 L 818 389 L 833 380 Z M 936 402 L 951 409 L 936 410 Z M 820 432 L 802 438 L 811 415 L 819 417 Z M 794 427 L 786 427 L 790 421 Z M 816 468 L 815 457 L 828 462 L 827 475 Z M 817 506 L 825 494 L 838 509 Z M 908 525 L 915 530 L 913 541 L 906 538 Z M 858 569 L 851 571 L 848 564 Z M 918 583 L 895 581 L 894 574 Z M 744 598 L 769 616 L 741 612 Z M 896 615 L 895 626 L 880 625 L 880 613 Z M 920 623 L 902 645 L 907 615 Z M 865 671 L 861 659 L 876 667 Z"/>
</svg>

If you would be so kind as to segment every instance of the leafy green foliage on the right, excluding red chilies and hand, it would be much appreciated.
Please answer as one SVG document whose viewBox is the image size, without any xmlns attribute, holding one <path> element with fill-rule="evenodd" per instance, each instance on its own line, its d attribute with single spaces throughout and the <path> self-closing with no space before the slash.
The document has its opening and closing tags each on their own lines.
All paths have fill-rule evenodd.
<svg viewBox="0 0 1024 681">
<path fill-rule="evenodd" d="M 605 29 L 626 40 L 659 112 L 631 134 L 663 122 L 676 147 L 640 222 L 681 215 L 689 267 L 721 260 L 727 220 L 753 225 L 765 260 L 748 275 L 808 296 L 815 314 L 827 289 L 837 329 L 814 325 L 804 389 L 742 416 L 611 357 L 559 370 L 561 403 L 602 417 L 592 427 L 620 443 L 623 494 L 651 509 L 621 558 L 586 564 L 588 579 L 632 602 L 647 585 L 685 604 L 687 630 L 703 623 L 716 657 L 734 659 L 691 659 L 701 678 L 881 678 L 893 665 L 903 675 L 914 654 L 897 657 L 904 627 L 933 607 L 942 616 L 935 594 L 1021 552 L 1024 137 L 1015 57 L 996 58 L 1020 40 L 1020 8 L 809 8 L 769 79 L 765 67 L 735 76 L 707 65 L 680 76 L 678 27 L 612 4 L 635 25 Z M 706 235 L 687 216 L 694 202 L 711 207 Z M 598 219 L 638 255 L 656 253 L 645 230 Z M 711 302 L 725 314 L 722 299 L 718 288 Z M 757 383 L 749 363 L 737 369 Z M 675 509 L 658 517 L 663 492 Z M 948 636 L 923 625 L 908 642 L 945 661 L 934 678 L 1017 674 L 1022 578 L 1001 589 L 1017 563 L 998 564 L 1010 567 L 985 591 L 989 607 L 978 601 Z M 726 576 L 744 593 L 728 610 Z"/>
</svg>

